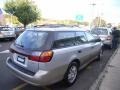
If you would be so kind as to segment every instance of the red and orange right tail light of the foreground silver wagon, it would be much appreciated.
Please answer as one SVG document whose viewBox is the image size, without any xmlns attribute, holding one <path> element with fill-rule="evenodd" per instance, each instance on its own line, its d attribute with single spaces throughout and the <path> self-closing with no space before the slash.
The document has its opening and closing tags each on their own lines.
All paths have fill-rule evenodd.
<svg viewBox="0 0 120 90">
<path fill-rule="evenodd" d="M 30 55 L 28 56 L 28 59 L 32 61 L 37 61 L 37 62 L 50 62 L 52 57 L 53 57 L 52 51 L 44 51 L 41 53 L 40 56 Z"/>
</svg>

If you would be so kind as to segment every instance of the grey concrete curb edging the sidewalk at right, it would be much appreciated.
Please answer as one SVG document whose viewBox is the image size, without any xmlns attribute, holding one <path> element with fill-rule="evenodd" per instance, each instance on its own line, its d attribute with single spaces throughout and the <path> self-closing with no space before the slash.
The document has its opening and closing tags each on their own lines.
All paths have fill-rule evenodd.
<svg viewBox="0 0 120 90">
<path fill-rule="evenodd" d="M 109 61 L 107 62 L 105 68 L 103 69 L 103 71 L 100 73 L 100 75 L 98 76 L 98 78 L 96 79 L 96 81 L 93 83 L 93 85 L 89 88 L 89 90 L 99 90 L 99 86 L 101 85 L 105 74 L 107 72 L 107 68 L 109 66 L 109 64 L 111 63 L 112 59 L 114 58 L 114 56 L 116 55 L 116 53 L 118 52 L 119 47 L 115 50 L 115 52 L 112 54 L 112 56 L 110 57 Z"/>
</svg>

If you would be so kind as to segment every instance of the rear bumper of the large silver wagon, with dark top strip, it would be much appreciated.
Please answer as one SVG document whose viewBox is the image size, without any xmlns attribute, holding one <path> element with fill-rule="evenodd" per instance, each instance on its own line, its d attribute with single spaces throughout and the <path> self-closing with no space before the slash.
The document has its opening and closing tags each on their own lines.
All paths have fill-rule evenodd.
<svg viewBox="0 0 120 90">
<path fill-rule="evenodd" d="M 54 77 L 54 74 L 57 72 L 38 70 L 34 73 L 17 66 L 9 57 L 7 58 L 6 64 L 18 78 L 35 86 L 46 86 L 60 80 L 60 78 Z"/>
</svg>

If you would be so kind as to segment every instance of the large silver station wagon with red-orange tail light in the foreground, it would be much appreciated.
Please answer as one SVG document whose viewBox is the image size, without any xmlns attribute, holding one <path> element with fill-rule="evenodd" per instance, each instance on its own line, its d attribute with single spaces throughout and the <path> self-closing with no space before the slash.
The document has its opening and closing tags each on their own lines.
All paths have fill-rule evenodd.
<svg viewBox="0 0 120 90">
<path fill-rule="evenodd" d="M 32 28 L 25 30 L 11 45 L 9 69 L 33 85 L 64 81 L 72 85 L 78 70 L 100 60 L 102 43 L 89 32 L 74 27 Z"/>
</svg>

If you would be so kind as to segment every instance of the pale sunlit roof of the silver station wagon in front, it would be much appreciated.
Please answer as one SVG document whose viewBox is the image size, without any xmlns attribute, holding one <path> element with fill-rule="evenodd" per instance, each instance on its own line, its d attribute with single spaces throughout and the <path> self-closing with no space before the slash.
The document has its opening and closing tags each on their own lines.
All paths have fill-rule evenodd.
<svg viewBox="0 0 120 90">
<path fill-rule="evenodd" d="M 39 28 L 29 28 L 26 30 L 35 30 L 35 31 L 87 31 L 85 29 L 79 28 L 79 27 L 39 27 Z"/>
</svg>

